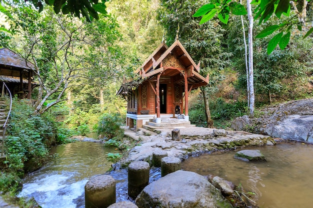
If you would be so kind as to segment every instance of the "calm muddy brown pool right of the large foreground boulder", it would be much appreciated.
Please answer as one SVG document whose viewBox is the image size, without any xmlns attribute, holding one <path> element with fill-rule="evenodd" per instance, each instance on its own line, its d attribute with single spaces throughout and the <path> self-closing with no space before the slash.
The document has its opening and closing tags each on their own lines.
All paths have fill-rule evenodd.
<svg viewBox="0 0 313 208">
<path fill-rule="evenodd" d="M 280 143 L 246 149 L 260 150 L 267 162 L 244 162 L 229 151 L 189 158 L 181 168 L 241 184 L 245 191 L 255 193 L 260 208 L 313 206 L 313 145 Z"/>
</svg>

